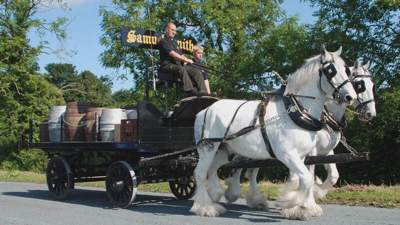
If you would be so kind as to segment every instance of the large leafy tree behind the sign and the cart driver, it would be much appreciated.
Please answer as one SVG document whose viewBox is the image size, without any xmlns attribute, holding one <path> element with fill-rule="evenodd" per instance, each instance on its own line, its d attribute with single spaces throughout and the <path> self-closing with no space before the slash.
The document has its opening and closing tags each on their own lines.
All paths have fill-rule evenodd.
<svg viewBox="0 0 400 225">
<path fill-rule="evenodd" d="M 149 29 L 151 26 L 153 30 L 164 31 L 167 22 L 171 21 L 176 24 L 178 34 L 192 36 L 204 46 L 207 66 L 264 84 L 280 84 L 279 79 L 272 76 L 272 69 L 286 75 L 302 64 L 305 57 L 311 56 L 309 51 L 302 50 L 306 43 L 306 26 L 298 25 L 296 17 L 286 18 L 279 7 L 280 2 L 114 1 L 118 12 L 107 11 L 105 7 L 100 9 L 104 31 L 100 42 L 106 47 L 100 58 L 107 68 L 128 68 L 136 80 L 135 92 L 142 93 L 147 81 L 143 75 L 145 65 L 149 64 L 145 56 L 150 54 L 148 50 L 123 47 L 120 27 Z M 290 57 L 290 54 L 279 57 L 287 52 L 296 53 L 296 57 Z M 157 62 L 157 51 L 154 55 Z M 119 76 L 123 77 L 123 74 Z M 210 82 L 220 97 L 258 97 L 213 76 L 210 76 Z"/>
</svg>

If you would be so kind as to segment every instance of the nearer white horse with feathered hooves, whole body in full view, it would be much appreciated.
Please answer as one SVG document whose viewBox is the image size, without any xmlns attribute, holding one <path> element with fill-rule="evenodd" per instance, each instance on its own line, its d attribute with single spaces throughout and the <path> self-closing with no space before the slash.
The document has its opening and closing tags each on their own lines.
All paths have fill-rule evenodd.
<svg viewBox="0 0 400 225">
<path fill-rule="evenodd" d="M 309 216 L 321 213 L 322 209 L 314 201 L 311 190 L 313 176 L 303 163 L 305 155 L 315 148 L 317 132 L 297 126 L 291 119 L 286 118 L 286 114 L 279 117 L 289 109 L 282 103 L 282 95 L 301 95 L 301 103 L 308 117 L 314 119 L 320 117 L 324 101 L 303 96 L 326 99 L 331 98 L 333 92 L 336 92 L 334 95 L 341 99 L 339 102 L 341 105 L 351 104 L 356 98 L 356 93 L 349 83 L 345 63 L 339 57 L 340 53 L 341 47 L 336 52 L 327 52 L 322 45 L 321 54 L 309 58 L 287 80 L 284 92 L 277 92 L 279 95 L 270 98 L 265 109 L 263 118 L 267 122 L 265 127 L 260 127 L 265 129 L 276 158 L 299 177 L 299 187 L 282 193 L 277 200 L 278 207 L 282 208 L 282 213 L 289 219 L 308 219 Z M 259 103 L 260 101 L 225 99 L 200 111 L 194 123 L 196 141 L 204 137 L 224 137 L 225 134 L 235 133 L 251 125 Z M 268 120 L 270 118 L 272 119 Z M 240 155 L 252 159 L 271 158 L 258 129 L 226 142 L 213 142 L 212 145 L 198 147 L 199 161 L 194 170 L 197 187 L 194 203 L 190 209 L 197 215 L 217 216 L 225 211 L 223 206 L 214 203 L 218 202 L 223 194 L 220 183 L 215 182 L 214 178 L 209 178 L 208 193 L 205 187 L 211 162 L 213 168 L 218 168 L 228 161 L 226 153 L 222 151 L 217 153 L 219 148 L 228 155 Z M 213 161 L 214 157 L 221 160 Z"/>
</svg>

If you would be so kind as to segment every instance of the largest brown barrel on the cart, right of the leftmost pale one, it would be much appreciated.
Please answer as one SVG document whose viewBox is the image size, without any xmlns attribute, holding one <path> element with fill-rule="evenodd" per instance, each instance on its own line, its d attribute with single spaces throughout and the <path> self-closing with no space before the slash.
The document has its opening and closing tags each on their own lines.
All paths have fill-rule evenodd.
<svg viewBox="0 0 400 225">
<path fill-rule="evenodd" d="M 67 103 L 64 117 L 65 141 L 86 140 L 83 124 L 86 110 L 90 107 L 96 107 L 96 104 L 85 101 L 73 101 Z"/>
</svg>

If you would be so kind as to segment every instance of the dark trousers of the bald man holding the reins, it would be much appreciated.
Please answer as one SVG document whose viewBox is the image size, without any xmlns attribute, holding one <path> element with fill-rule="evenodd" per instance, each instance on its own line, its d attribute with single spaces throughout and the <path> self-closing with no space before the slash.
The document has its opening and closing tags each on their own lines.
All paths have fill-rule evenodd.
<svg viewBox="0 0 400 225">
<path fill-rule="evenodd" d="M 193 89 L 191 80 L 197 84 L 199 90 L 204 90 L 207 92 L 204 84 L 204 77 L 200 70 L 192 68 L 190 66 L 176 65 L 170 62 L 163 62 L 159 72 L 165 77 L 158 76 L 162 80 L 180 80 L 183 82 L 183 89 L 189 91 Z M 171 77 L 168 77 L 171 74 Z M 159 74 L 160 75 L 160 74 Z"/>
</svg>

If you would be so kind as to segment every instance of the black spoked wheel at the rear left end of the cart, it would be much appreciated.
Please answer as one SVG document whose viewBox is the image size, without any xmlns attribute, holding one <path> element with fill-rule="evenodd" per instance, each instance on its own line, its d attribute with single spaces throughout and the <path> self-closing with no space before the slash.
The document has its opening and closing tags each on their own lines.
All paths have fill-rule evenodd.
<svg viewBox="0 0 400 225">
<path fill-rule="evenodd" d="M 54 156 L 50 159 L 46 169 L 47 187 L 52 198 L 64 200 L 71 189 L 71 168 L 62 156 Z"/>
</svg>

